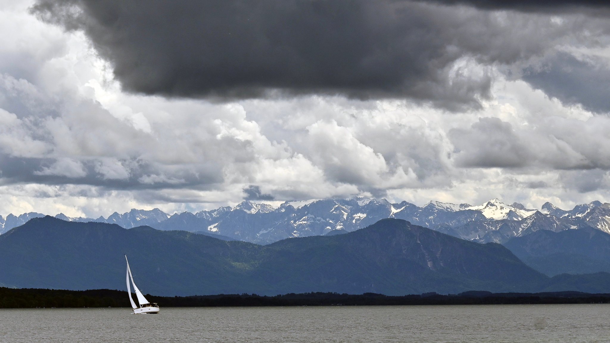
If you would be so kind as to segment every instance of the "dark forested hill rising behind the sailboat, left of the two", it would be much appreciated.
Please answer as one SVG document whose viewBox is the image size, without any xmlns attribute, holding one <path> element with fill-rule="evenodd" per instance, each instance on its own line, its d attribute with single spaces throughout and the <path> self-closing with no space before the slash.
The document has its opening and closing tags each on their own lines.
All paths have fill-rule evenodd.
<svg viewBox="0 0 610 343">
<path fill-rule="evenodd" d="M 242 292 L 242 271 L 262 247 L 186 231 L 35 218 L 0 236 L 0 284 L 124 289 L 125 258 L 143 292 Z M 237 266 L 237 267 L 236 267 Z M 260 287 L 257 287 L 260 288 Z"/>
</svg>

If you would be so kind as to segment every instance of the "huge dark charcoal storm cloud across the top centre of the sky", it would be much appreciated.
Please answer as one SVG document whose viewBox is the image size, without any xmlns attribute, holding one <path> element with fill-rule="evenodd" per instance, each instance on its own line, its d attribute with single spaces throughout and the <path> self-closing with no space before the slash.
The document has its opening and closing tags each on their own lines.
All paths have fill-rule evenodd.
<svg viewBox="0 0 610 343">
<path fill-rule="evenodd" d="M 32 11 L 82 29 L 125 90 L 208 98 L 318 93 L 472 106 L 489 96 L 490 77 L 451 67 L 487 54 L 479 49 L 504 30 L 485 14 L 390 0 L 39 0 Z"/>
</svg>

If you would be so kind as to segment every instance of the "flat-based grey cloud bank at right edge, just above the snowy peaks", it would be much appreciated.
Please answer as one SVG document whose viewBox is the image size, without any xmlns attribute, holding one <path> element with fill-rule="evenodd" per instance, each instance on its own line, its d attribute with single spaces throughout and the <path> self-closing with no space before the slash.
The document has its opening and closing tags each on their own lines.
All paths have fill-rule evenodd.
<svg viewBox="0 0 610 343">
<path fill-rule="evenodd" d="M 479 118 L 468 129 L 448 135 L 461 167 L 609 170 L 605 117 L 589 120 L 544 118 L 514 127 L 499 118 Z"/>
</svg>

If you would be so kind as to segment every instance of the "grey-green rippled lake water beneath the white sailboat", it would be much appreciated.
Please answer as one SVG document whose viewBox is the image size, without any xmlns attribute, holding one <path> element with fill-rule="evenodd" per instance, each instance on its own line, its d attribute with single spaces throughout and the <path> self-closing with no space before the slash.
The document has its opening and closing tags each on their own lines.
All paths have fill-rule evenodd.
<svg viewBox="0 0 610 343">
<path fill-rule="evenodd" d="M 1 342 L 610 342 L 610 305 L 0 309 Z"/>
</svg>

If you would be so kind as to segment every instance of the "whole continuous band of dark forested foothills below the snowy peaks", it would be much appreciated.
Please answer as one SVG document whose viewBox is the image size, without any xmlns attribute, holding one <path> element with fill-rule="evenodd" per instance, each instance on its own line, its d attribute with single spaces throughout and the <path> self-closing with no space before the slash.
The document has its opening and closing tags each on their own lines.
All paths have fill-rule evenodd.
<svg viewBox="0 0 610 343">
<path fill-rule="evenodd" d="M 138 286 L 157 295 L 610 292 L 608 273 L 551 278 L 500 244 L 469 242 L 394 218 L 350 233 L 268 245 L 33 218 L 0 236 L 0 286 L 124 289 L 123 254 Z"/>
</svg>

